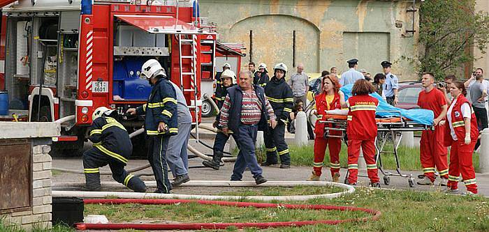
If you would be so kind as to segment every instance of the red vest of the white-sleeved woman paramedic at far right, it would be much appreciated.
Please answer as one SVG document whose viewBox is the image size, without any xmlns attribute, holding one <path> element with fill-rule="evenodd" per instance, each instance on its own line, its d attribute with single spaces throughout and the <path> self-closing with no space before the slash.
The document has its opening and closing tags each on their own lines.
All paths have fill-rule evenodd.
<svg viewBox="0 0 489 232">
<path fill-rule="evenodd" d="M 472 105 L 470 105 L 470 102 L 463 95 L 459 95 L 456 100 L 457 102 L 455 102 L 455 105 L 453 105 L 453 109 L 451 113 L 452 125 L 453 125 L 453 130 L 455 130 L 455 134 L 457 135 L 458 141 L 464 141 L 465 122 L 460 108 L 464 103 L 468 103 L 470 109 L 472 109 Z M 477 119 L 476 119 L 476 115 L 474 114 L 474 109 L 472 109 L 472 114 L 470 116 L 470 139 L 472 139 L 472 141 L 476 141 L 478 137 L 479 137 L 479 129 L 477 128 Z M 450 132 L 450 125 L 446 125 L 444 146 L 451 146 L 453 142 L 454 140 Z"/>
</svg>

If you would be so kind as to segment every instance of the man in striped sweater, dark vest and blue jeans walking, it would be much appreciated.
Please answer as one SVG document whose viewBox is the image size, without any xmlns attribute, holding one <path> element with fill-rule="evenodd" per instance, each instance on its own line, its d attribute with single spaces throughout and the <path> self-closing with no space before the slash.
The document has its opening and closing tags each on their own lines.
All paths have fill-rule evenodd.
<svg viewBox="0 0 489 232">
<path fill-rule="evenodd" d="M 255 142 L 258 130 L 275 128 L 277 118 L 263 88 L 252 85 L 251 72 L 240 72 L 238 86 L 228 88 L 228 95 L 221 108 L 219 125 L 224 134 L 232 134 L 240 153 L 234 164 L 231 180 L 241 180 L 246 167 L 253 174 L 256 185 L 267 180 L 261 176 L 262 169 L 255 156 Z"/>
</svg>

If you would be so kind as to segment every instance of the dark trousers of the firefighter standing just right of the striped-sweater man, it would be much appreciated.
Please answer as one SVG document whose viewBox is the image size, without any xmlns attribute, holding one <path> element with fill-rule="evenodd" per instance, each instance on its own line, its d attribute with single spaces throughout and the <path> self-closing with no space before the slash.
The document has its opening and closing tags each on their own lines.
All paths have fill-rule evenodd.
<svg viewBox="0 0 489 232">
<path fill-rule="evenodd" d="M 264 133 L 265 148 L 267 149 L 267 160 L 269 164 L 277 164 L 277 154 L 281 164 L 291 164 L 289 146 L 285 142 L 285 124 L 279 123 L 275 129 L 268 127 Z"/>
</svg>

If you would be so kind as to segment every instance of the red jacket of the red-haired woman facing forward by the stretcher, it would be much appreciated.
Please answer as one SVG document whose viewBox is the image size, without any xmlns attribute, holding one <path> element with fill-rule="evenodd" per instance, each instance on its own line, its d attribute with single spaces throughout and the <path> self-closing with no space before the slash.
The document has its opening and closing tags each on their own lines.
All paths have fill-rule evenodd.
<svg viewBox="0 0 489 232">
<path fill-rule="evenodd" d="M 319 123 L 319 121 L 326 121 L 326 92 L 323 92 L 316 96 L 316 111 L 318 112 L 318 119 L 316 121 L 316 127 L 314 127 L 314 134 L 316 137 L 323 138 L 324 137 L 324 127 L 333 127 L 331 123 Z M 333 102 L 330 104 L 330 110 L 333 109 L 342 109 L 342 105 L 340 103 L 340 94 L 335 93 L 335 98 L 333 98 Z M 329 134 L 331 135 L 342 135 L 340 130 L 330 130 Z"/>
</svg>

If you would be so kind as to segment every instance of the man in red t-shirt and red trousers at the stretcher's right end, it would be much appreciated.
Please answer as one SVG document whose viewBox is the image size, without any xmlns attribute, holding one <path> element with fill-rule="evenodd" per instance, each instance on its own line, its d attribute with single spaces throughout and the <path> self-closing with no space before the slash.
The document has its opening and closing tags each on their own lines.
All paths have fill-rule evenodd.
<svg viewBox="0 0 489 232">
<path fill-rule="evenodd" d="M 438 169 L 441 177 L 439 185 L 446 186 L 448 181 L 448 162 L 446 154 L 448 153 L 444 146 L 445 125 L 439 125 L 446 116 L 446 98 L 438 88 L 435 88 L 435 76 L 431 72 L 423 73 L 421 79 L 424 91 L 419 93 L 418 106 L 421 109 L 429 109 L 435 114 L 433 126 L 435 130 L 424 130 L 421 134 L 419 146 L 419 156 L 421 167 L 425 178 L 418 181 L 418 185 L 433 185 L 435 183 L 435 167 Z"/>
</svg>

